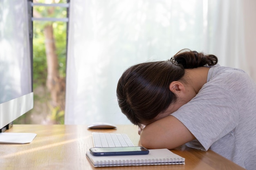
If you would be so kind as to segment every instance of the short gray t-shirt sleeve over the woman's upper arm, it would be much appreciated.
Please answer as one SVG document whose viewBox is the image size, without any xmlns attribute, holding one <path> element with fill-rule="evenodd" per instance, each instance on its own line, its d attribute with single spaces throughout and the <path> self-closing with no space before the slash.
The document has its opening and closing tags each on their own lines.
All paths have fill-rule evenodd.
<svg viewBox="0 0 256 170">
<path fill-rule="evenodd" d="M 190 102 L 172 113 L 197 140 L 187 145 L 208 150 L 238 125 L 238 108 L 231 94 L 218 85 L 205 84 Z M 198 146 L 198 142 L 202 146 Z"/>
</svg>

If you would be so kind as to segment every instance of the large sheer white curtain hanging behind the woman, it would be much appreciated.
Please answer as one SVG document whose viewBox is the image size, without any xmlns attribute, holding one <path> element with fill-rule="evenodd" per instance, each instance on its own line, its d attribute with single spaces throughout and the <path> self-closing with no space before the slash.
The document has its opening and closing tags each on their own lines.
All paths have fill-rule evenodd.
<svg viewBox="0 0 256 170">
<path fill-rule="evenodd" d="M 71 0 L 65 124 L 130 124 L 117 104 L 121 74 L 128 66 L 167 60 L 184 48 L 215 54 L 221 65 L 251 74 L 246 56 L 255 55 L 255 39 L 245 31 L 256 35 L 248 19 L 256 16 L 255 4 L 254 0 Z"/>
</svg>

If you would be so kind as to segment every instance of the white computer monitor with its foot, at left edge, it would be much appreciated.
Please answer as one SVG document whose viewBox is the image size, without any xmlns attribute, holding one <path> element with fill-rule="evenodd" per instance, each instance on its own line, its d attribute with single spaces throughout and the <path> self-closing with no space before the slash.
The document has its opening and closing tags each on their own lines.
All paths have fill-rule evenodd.
<svg viewBox="0 0 256 170">
<path fill-rule="evenodd" d="M 28 0 L 0 0 L 0 143 L 29 143 L 36 135 L 2 132 L 34 106 L 29 10 Z"/>
</svg>

